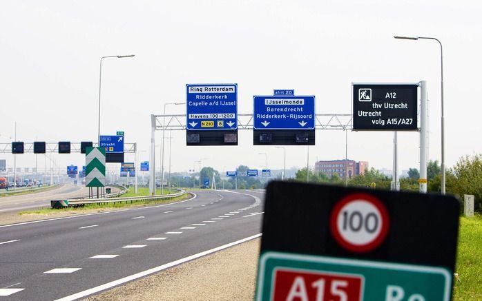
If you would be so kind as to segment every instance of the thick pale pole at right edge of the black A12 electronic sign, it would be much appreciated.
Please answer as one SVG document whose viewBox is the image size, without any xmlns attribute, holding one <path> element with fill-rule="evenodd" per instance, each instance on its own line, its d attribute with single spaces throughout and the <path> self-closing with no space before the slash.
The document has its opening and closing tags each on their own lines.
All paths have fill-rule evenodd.
<svg viewBox="0 0 482 301">
<path fill-rule="evenodd" d="M 427 81 L 421 81 L 420 105 L 420 192 L 427 192 Z"/>
</svg>

